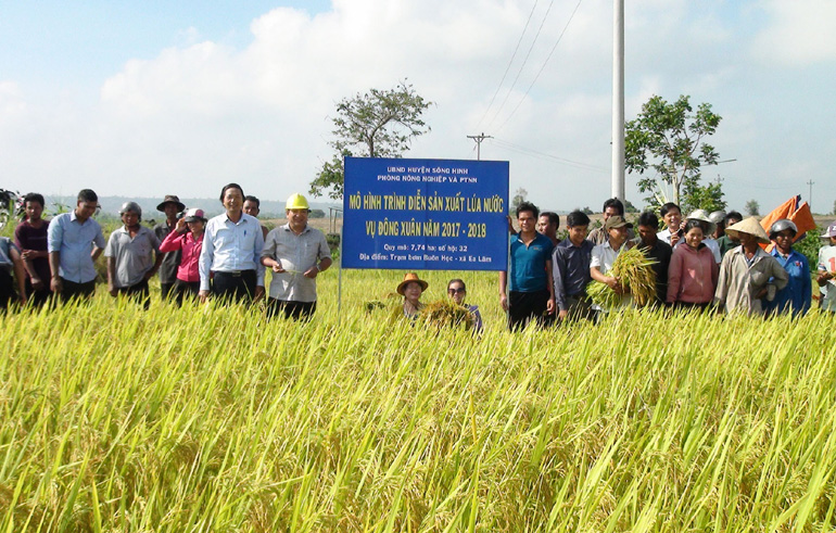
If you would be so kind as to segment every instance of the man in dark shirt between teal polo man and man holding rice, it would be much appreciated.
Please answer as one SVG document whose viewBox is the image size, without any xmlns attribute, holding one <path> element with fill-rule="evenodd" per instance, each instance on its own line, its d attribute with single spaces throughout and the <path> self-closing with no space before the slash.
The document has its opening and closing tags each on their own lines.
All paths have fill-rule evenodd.
<svg viewBox="0 0 836 533">
<path fill-rule="evenodd" d="M 586 239 L 590 217 L 574 211 L 566 217 L 569 237 L 555 246 L 552 255 L 555 282 L 555 302 L 560 320 L 592 318 L 592 304 L 586 297 L 586 285 L 592 280 L 590 261 L 595 244 Z"/>
</svg>

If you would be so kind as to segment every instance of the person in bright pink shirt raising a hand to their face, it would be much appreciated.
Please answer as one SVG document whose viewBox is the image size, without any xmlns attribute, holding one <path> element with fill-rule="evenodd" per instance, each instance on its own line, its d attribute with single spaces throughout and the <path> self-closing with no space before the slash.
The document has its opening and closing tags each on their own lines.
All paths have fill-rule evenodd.
<svg viewBox="0 0 836 533">
<path fill-rule="evenodd" d="M 203 216 L 203 210 L 192 207 L 183 214 L 182 218 L 177 220 L 175 230 L 168 233 L 163 243 L 160 244 L 160 252 L 182 250 L 180 266 L 177 267 L 177 280 L 173 288 L 177 305 L 182 305 L 185 294 L 193 297 L 200 291 L 198 259 L 203 248 L 203 228 L 205 225 L 206 217 Z"/>
</svg>

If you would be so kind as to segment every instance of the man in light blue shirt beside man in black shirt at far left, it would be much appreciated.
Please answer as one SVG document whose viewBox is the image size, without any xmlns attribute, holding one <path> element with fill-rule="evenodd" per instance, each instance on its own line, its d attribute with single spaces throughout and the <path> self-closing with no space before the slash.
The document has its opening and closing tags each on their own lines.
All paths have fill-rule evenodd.
<svg viewBox="0 0 836 533">
<path fill-rule="evenodd" d="M 92 219 L 98 208 L 99 196 L 84 189 L 78 193 L 76 208 L 58 215 L 49 225 L 50 288 L 65 302 L 74 296 L 89 297 L 96 292 L 93 263 L 104 250 L 102 228 Z"/>
</svg>

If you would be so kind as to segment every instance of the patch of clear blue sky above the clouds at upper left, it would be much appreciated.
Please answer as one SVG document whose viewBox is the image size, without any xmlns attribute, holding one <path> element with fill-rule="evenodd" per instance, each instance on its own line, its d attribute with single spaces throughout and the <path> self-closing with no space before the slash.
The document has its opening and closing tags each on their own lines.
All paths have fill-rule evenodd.
<svg viewBox="0 0 836 533">
<path fill-rule="evenodd" d="M 263 0 L 0 2 L 2 77 L 40 89 L 56 78 L 71 86 L 98 86 L 127 60 L 152 59 L 197 36 L 243 48 L 252 40 L 252 21 L 276 5 Z M 330 2 L 281 5 L 317 13 Z"/>
</svg>

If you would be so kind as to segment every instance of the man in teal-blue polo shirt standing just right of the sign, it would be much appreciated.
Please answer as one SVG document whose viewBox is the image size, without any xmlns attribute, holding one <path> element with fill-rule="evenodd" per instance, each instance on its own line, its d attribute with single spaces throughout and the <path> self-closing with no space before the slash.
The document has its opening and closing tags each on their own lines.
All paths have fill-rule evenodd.
<svg viewBox="0 0 836 533">
<path fill-rule="evenodd" d="M 529 202 L 517 207 L 520 232 L 510 236 L 510 279 L 508 272 L 499 272 L 499 304 L 508 312 L 511 331 L 524 328 L 532 318 L 542 325 L 545 317 L 555 313 L 554 246 L 536 231 L 539 215 L 540 210 Z"/>
</svg>

